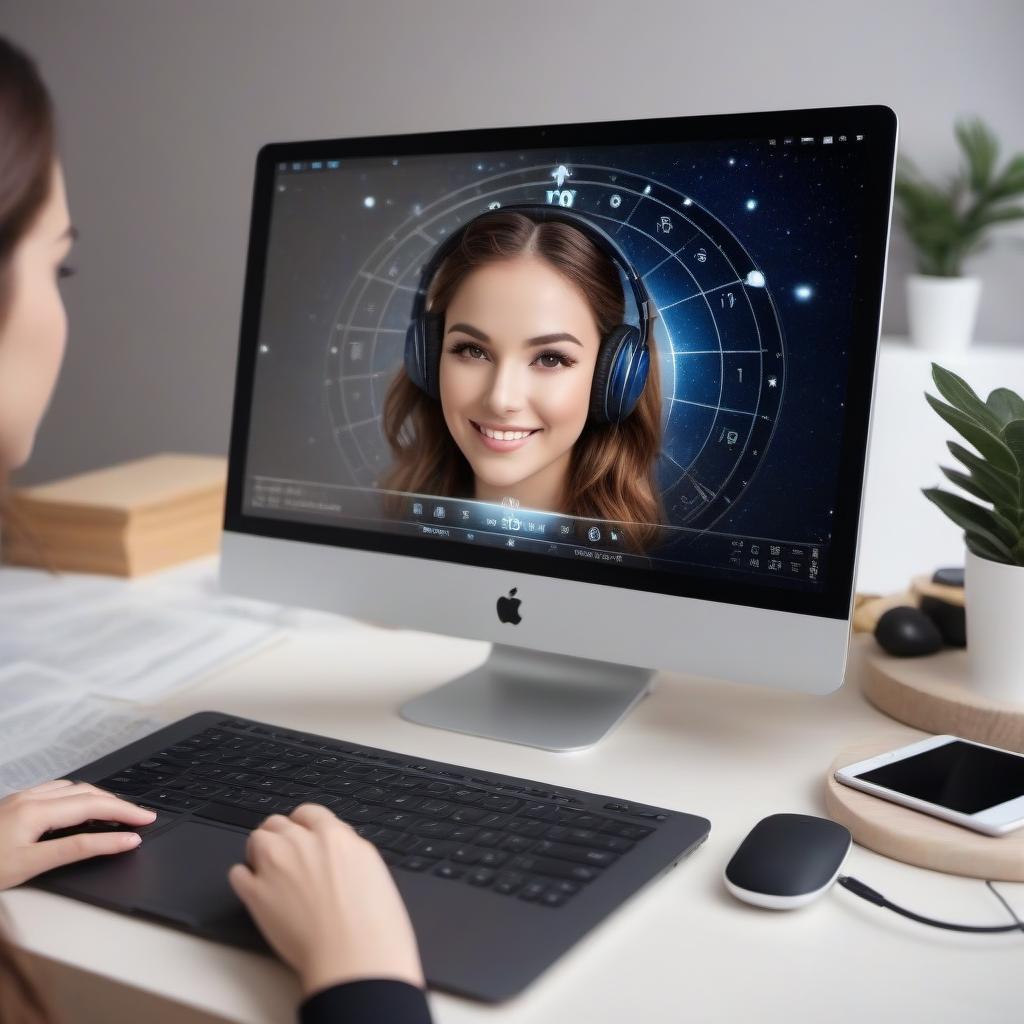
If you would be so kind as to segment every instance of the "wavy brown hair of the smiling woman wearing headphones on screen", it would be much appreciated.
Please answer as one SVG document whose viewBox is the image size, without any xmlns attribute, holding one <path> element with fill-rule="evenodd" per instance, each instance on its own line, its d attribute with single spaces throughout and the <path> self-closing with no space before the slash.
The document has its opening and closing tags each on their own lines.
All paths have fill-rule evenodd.
<svg viewBox="0 0 1024 1024">
<path fill-rule="evenodd" d="M 539 256 L 586 297 L 604 337 L 623 323 L 625 302 L 615 264 L 583 231 L 563 221 L 537 222 L 527 214 L 496 210 L 477 217 L 437 268 L 427 298 L 443 313 L 462 282 L 477 267 L 518 256 Z M 662 389 L 653 331 L 647 338 L 650 370 L 633 413 L 622 423 L 588 422 L 572 449 L 566 480 L 568 515 L 638 524 L 631 540 L 645 547 L 656 535 L 662 506 L 654 468 L 662 444 Z M 473 471 L 452 438 L 440 402 L 399 369 L 384 401 L 384 435 L 394 462 L 380 483 L 392 490 L 473 496 Z"/>
</svg>

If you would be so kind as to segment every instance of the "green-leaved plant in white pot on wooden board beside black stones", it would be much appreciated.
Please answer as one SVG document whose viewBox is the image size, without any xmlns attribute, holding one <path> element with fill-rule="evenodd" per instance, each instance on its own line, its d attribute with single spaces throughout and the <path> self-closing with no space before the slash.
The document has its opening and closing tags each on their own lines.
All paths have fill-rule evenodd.
<svg viewBox="0 0 1024 1024">
<path fill-rule="evenodd" d="M 934 362 L 932 380 L 946 400 L 926 393 L 929 404 L 971 445 L 948 441 L 963 469 L 942 467 L 970 498 L 925 490 L 964 528 L 971 681 L 994 699 L 1024 703 L 1024 398 L 997 388 L 982 401 Z"/>
</svg>

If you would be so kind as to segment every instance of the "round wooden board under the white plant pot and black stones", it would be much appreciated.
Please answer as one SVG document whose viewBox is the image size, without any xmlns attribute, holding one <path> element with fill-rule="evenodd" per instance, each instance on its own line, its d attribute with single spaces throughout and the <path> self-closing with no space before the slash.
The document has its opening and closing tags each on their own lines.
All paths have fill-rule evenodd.
<svg viewBox="0 0 1024 1024">
<path fill-rule="evenodd" d="M 893 657 L 877 644 L 866 653 L 864 696 L 899 722 L 1024 754 L 1024 705 L 972 692 L 967 651 L 947 648 L 927 657 Z"/>
</svg>

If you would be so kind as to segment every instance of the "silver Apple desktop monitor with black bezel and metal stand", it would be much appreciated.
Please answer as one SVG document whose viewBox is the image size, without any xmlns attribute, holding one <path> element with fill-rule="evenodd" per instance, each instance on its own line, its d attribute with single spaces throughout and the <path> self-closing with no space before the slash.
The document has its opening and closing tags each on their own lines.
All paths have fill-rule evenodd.
<svg viewBox="0 0 1024 1024">
<path fill-rule="evenodd" d="M 402 714 L 550 750 L 656 669 L 838 687 L 896 133 L 847 106 L 265 146 L 224 587 L 490 640 Z"/>
</svg>

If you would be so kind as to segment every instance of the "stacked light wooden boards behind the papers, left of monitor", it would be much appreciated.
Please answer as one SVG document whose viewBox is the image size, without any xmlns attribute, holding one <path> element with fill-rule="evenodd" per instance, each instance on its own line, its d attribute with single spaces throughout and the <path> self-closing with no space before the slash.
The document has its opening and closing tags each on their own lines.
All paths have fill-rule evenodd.
<svg viewBox="0 0 1024 1024">
<path fill-rule="evenodd" d="M 155 455 L 13 492 L 3 560 L 134 577 L 220 546 L 227 463 Z"/>
</svg>

